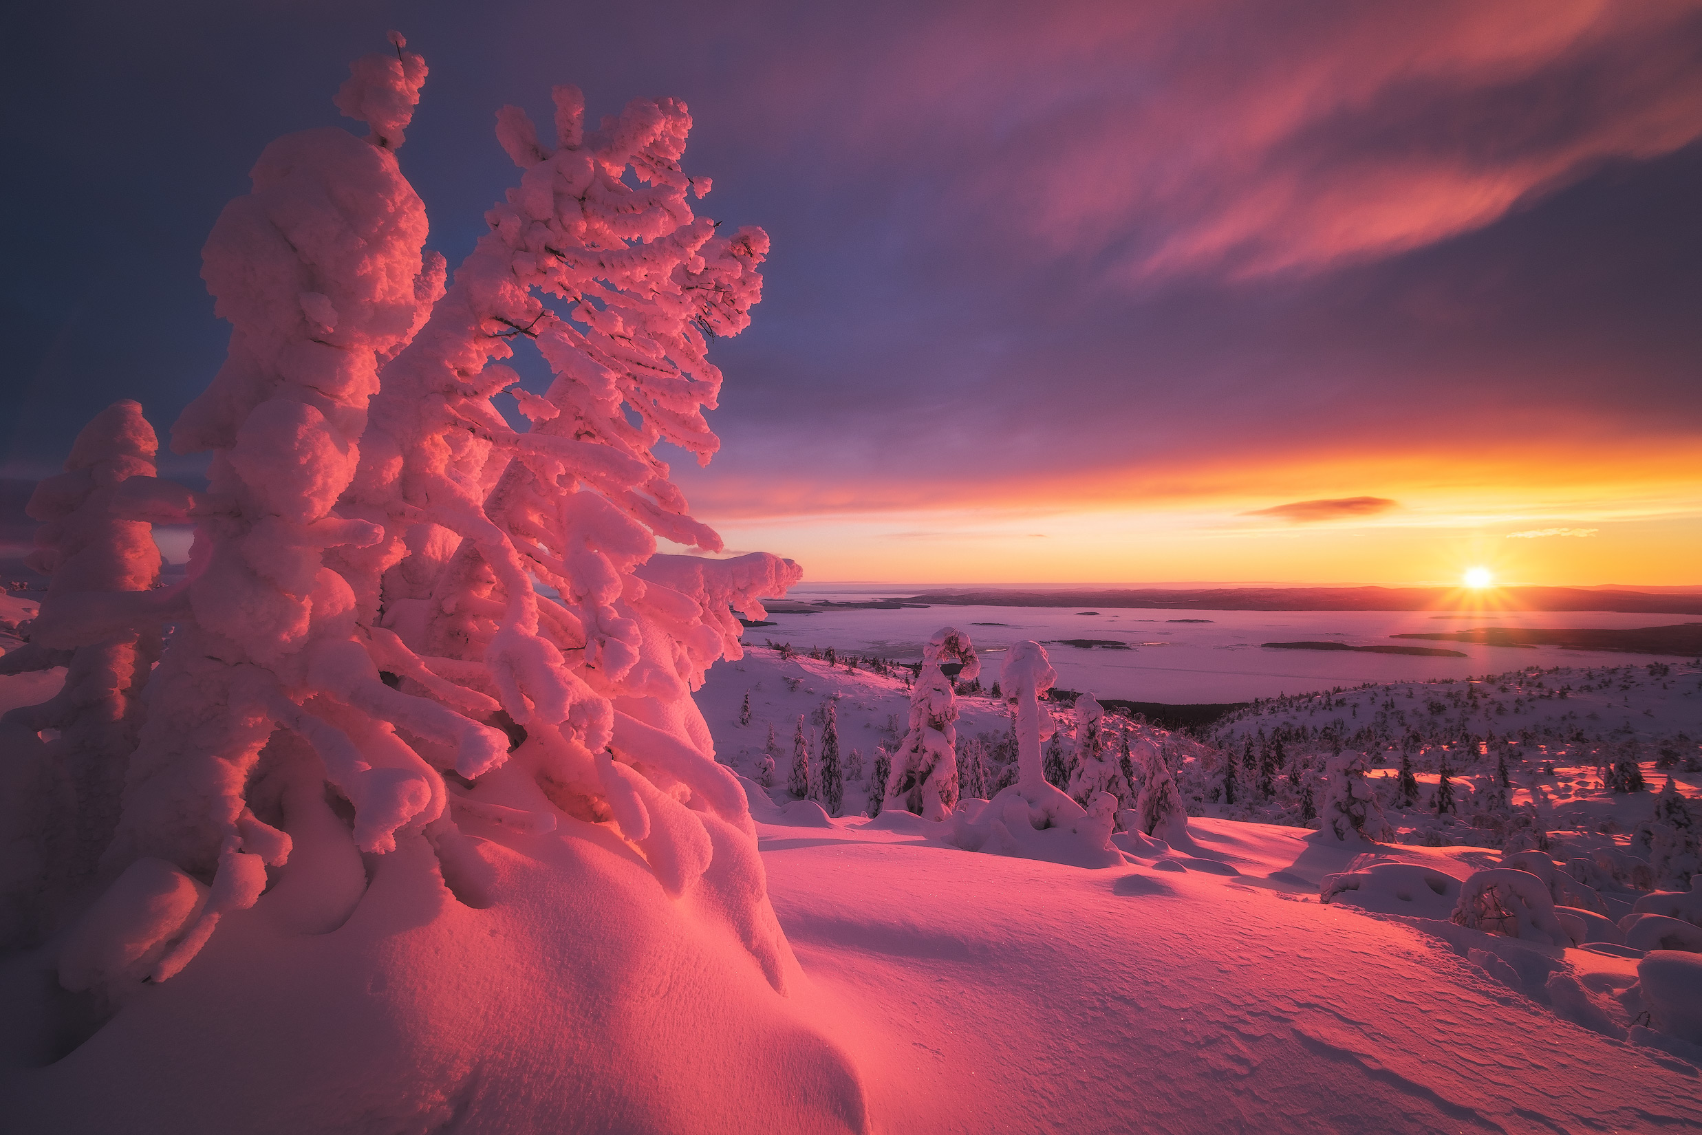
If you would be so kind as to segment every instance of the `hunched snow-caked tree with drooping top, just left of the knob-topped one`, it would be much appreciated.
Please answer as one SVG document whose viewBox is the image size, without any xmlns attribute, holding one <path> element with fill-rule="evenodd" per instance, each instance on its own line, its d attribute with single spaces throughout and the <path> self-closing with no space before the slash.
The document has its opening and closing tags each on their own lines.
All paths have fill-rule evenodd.
<svg viewBox="0 0 1702 1135">
<path fill-rule="evenodd" d="M 894 752 L 883 808 L 943 820 L 958 800 L 957 689 L 941 669 L 951 662 L 962 665 L 960 681 L 980 674 L 968 635 L 943 626 L 922 647 L 922 669 L 911 689 L 911 728 Z"/>
</svg>

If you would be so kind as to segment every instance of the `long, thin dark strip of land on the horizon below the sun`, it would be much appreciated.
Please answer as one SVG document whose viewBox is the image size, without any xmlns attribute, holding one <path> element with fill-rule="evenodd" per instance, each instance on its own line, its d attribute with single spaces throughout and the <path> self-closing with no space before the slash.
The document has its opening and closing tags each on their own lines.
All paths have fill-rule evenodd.
<svg viewBox="0 0 1702 1135">
<path fill-rule="evenodd" d="M 1590 587 L 1496 587 L 1498 611 L 1702 614 L 1702 594 Z M 1117 590 L 940 590 L 882 602 L 955 607 L 1181 607 L 1193 611 L 1445 611 L 1484 597 L 1459 587 L 1128 587 Z M 1493 618 L 1479 614 L 1476 618 Z"/>
</svg>

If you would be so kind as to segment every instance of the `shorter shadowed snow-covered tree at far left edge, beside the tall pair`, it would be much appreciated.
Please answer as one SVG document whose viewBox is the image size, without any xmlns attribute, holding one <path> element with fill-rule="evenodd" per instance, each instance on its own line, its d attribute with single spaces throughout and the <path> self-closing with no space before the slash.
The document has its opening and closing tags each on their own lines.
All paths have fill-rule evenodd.
<svg viewBox="0 0 1702 1135">
<path fill-rule="evenodd" d="M 151 478 L 158 442 L 134 402 L 95 415 L 65 473 L 36 485 L 41 521 L 26 563 L 49 577 L 31 642 L 0 674 L 66 667 L 65 686 L 0 718 L 7 790 L 0 793 L 0 948 L 51 934 L 87 887 L 117 824 L 124 767 L 141 728 L 141 693 L 160 657 L 153 619 L 82 626 L 107 594 L 146 596 L 160 577 L 151 526 L 112 512 L 121 485 Z M 56 732 L 51 740 L 41 733 Z"/>
</svg>

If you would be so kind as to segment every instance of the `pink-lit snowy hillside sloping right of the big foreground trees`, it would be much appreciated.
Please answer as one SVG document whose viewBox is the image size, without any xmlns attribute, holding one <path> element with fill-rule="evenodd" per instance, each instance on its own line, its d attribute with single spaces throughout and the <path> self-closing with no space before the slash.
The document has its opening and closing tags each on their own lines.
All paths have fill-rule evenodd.
<svg viewBox="0 0 1702 1135">
<path fill-rule="evenodd" d="M 1603 677 L 1545 674 L 1547 684 L 1530 679 L 1530 689 L 1547 704 L 1542 689 L 1576 691 Z M 1690 699 L 1680 684 L 1695 684 L 1688 669 L 1682 682 L 1675 669 L 1668 689 L 1646 672 L 1632 689 L 1619 689 L 1629 674 L 1613 677 L 1620 708 L 1629 698 L 1637 716 L 1656 711 L 1642 718 L 1641 742 L 1683 732 Z M 1596 694 L 1600 713 L 1607 693 L 1581 696 Z M 740 725 L 745 694 L 749 723 Z M 1220 737 L 1239 742 L 1282 728 L 1307 752 L 1338 715 L 1355 720 L 1355 698 L 1377 720 L 1374 701 L 1385 704 L 1391 694 L 1404 698 L 1377 687 L 1259 706 Z M 1445 693 L 1436 696 L 1447 703 Z M 1523 703 L 1510 687 L 1506 699 L 1515 696 Z M 815 752 L 812 711 L 824 701 L 837 708 L 842 749 L 890 745 L 905 689 L 866 665 L 848 670 L 757 650 L 718 664 L 698 701 L 722 759 L 749 774 L 769 725 L 790 757 L 798 715 Z M 1588 720 L 1591 703 L 1571 693 L 1556 701 L 1556 718 L 1581 711 Z M 1008 732 L 1001 703 L 968 696 L 958 704 L 960 737 Z M 1329 716 L 1319 721 L 1326 704 Z M 1462 710 L 1482 706 L 1462 696 Z M 1067 730 L 1065 708 L 1054 706 L 1054 716 Z M 1428 708 L 1425 716 L 1433 716 Z M 1547 728 L 1542 715 L 1520 720 L 1532 733 Z M 1186 750 L 1183 781 L 1191 764 L 1220 761 L 1181 737 L 1132 732 Z M 1651 779 L 1654 773 L 1649 762 Z M 1648 820 L 1654 793 L 1615 796 L 1586 781 L 1564 764 L 1539 778 L 1544 807 L 1559 813 L 1556 829 L 1568 808 L 1586 805 L 1591 822 L 1602 810 L 1624 829 Z M 1678 773 L 1688 795 L 1693 781 L 1702 776 Z M 1552 944 L 1450 921 L 1462 885 L 1503 858 L 1464 839 L 1435 847 L 1339 842 L 1300 827 L 1193 818 L 1188 846 L 1115 836 L 1122 866 L 1082 870 L 972 854 L 953 844 L 950 824 L 905 813 L 868 820 L 848 807 L 849 815 L 831 818 L 812 801 L 785 803 L 778 779 L 768 793 L 751 783 L 747 791 L 781 926 L 824 1012 L 861 1038 L 853 1048 L 873 1060 L 871 1106 L 904 1116 L 894 1120 L 897 1130 L 1629 1132 L 1702 1123 L 1702 1019 L 1683 1035 L 1648 1028 L 1637 985 L 1648 953 L 1624 946 L 1617 922 L 1648 921 L 1632 907 L 1646 907 L 1649 895 L 1605 870 L 1590 876 L 1602 890 L 1585 897 L 1579 888 L 1574 900 L 1595 898 L 1612 917 L 1571 914 L 1574 926 L 1590 922 L 1588 933 Z M 1319 803 L 1324 791 L 1321 783 Z M 1516 803 L 1528 793 L 1522 788 Z M 846 800 L 861 795 L 848 784 Z M 1389 813 L 1402 829 L 1419 815 Z M 1627 841 L 1571 825 L 1554 832 L 1551 854 L 1564 864 L 1588 858 L 1591 846 L 1617 846 L 1624 856 Z M 1557 875 L 1571 885 L 1564 868 Z"/>
</svg>

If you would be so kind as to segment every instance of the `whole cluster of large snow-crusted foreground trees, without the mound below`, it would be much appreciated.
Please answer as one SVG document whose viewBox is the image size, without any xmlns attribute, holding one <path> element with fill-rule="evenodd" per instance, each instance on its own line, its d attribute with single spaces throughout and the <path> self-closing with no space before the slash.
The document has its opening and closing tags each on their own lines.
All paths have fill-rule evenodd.
<svg viewBox="0 0 1702 1135">
<path fill-rule="evenodd" d="M 737 847 L 754 847 L 745 798 L 689 694 L 739 657 L 732 611 L 761 619 L 800 572 L 657 555 L 722 545 L 654 453 L 715 453 L 708 347 L 749 323 L 768 237 L 693 213 L 710 180 L 681 170 L 684 104 L 592 126 L 557 87 L 548 138 L 499 114 L 519 179 L 451 279 L 397 162 L 426 65 L 393 48 L 337 95 L 368 136 L 277 140 L 206 243 L 230 354 L 172 448 L 209 454 L 208 488 L 158 478 L 121 402 L 31 502 L 53 584 L 0 670 L 70 676 L 0 727 L 0 933 L 39 941 L 94 887 L 114 948 L 92 956 L 112 972 L 83 980 L 162 982 L 286 881 L 296 917 L 328 926 L 359 900 L 363 854 L 427 846 L 444 878 L 477 880 L 460 820 L 596 824 L 660 895 L 715 876 L 778 982 L 778 926 L 749 929 L 766 897 Z M 504 364 L 521 342 L 553 374 L 543 393 Z M 168 587 L 151 524 L 196 528 Z M 500 778 L 531 812 L 480 798 Z"/>
</svg>

